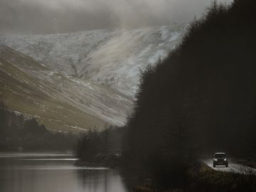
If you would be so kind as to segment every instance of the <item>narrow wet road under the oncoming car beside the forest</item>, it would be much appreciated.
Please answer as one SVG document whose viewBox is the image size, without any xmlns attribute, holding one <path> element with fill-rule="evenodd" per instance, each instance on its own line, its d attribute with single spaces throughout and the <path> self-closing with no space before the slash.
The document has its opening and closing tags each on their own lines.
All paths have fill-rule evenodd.
<svg viewBox="0 0 256 192">
<path fill-rule="evenodd" d="M 213 167 L 213 159 L 201 159 L 201 161 L 204 164 L 208 165 L 211 169 L 214 169 L 216 171 L 227 171 L 227 172 L 233 172 L 236 174 L 255 174 L 256 175 L 256 169 L 252 169 L 251 167 L 244 166 L 242 164 L 237 164 L 232 160 L 229 160 L 228 167 L 225 167 L 225 166 Z"/>
</svg>

